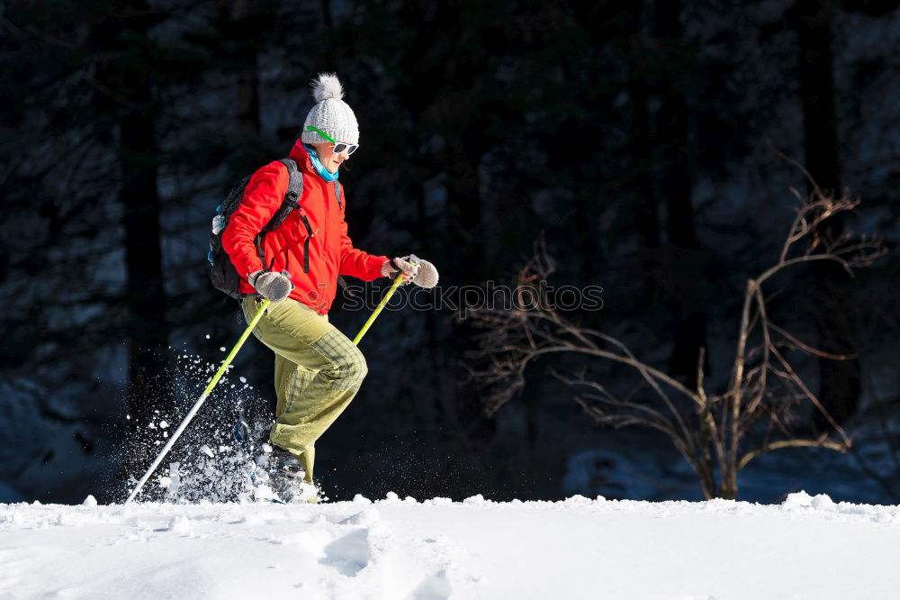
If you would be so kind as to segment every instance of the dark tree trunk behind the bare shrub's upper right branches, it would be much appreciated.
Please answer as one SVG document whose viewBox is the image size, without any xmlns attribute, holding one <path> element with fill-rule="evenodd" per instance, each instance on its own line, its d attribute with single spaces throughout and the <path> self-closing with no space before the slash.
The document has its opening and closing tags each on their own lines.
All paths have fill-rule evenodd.
<svg viewBox="0 0 900 600">
<path fill-rule="evenodd" d="M 834 77 L 831 0 L 797 0 L 792 17 L 797 30 L 800 93 L 803 99 L 806 168 L 825 194 L 840 195 L 837 132 L 834 112 Z M 843 232 L 842 215 L 829 219 L 819 232 L 834 239 Z M 853 354 L 856 340 L 850 314 L 850 277 L 831 261 L 816 261 L 812 267 L 814 305 L 819 349 L 831 354 Z M 819 359 L 819 399 L 836 423 L 856 412 L 860 404 L 860 361 Z M 815 426 L 831 429 L 822 414 Z"/>
</svg>

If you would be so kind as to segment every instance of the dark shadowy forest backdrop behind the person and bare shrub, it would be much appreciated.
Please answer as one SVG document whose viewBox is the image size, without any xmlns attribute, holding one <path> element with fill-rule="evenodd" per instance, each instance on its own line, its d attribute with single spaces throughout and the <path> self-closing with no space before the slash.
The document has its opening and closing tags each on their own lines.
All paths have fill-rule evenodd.
<svg viewBox="0 0 900 600">
<path fill-rule="evenodd" d="M 334 72 L 350 235 L 440 284 L 360 343 L 331 499 L 900 502 L 898 5 L 0 2 L 0 501 L 121 501 L 247 326 L 216 206 Z M 352 336 L 390 282 L 346 283 Z"/>
</svg>

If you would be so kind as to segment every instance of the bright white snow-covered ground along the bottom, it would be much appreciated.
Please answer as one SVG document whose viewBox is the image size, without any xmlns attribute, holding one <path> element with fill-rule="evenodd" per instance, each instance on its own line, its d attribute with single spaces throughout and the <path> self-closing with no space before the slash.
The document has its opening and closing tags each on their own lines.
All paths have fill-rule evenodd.
<svg viewBox="0 0 900 600">
<path fill-rule="evenodd" d="M 900 506 L 0 505 L 0 598 L 898 598 Z"/>
</svg>

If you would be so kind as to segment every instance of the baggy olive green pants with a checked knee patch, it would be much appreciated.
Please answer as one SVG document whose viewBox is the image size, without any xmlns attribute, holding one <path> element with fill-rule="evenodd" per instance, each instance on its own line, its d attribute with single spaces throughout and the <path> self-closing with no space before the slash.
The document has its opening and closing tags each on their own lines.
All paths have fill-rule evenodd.
<svg viewBox="0 0 900 600">
<path fill-rule="evenodd" d="M 249 323 L 256 296 L 241 301 Z M 312 482 L 315 443 L 347 408 L 368 371 L 363 353 L 328 316 L 287 299 L 271 304 L 253 330 L 275 352 L 275 424 L 269 441 L 295 454 Z"/>
</svg>

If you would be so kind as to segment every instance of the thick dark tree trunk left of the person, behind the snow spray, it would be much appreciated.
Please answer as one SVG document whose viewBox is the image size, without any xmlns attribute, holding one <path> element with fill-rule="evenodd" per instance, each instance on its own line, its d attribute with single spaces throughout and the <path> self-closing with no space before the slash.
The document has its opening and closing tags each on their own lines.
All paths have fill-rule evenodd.
<svg viewBox="0 0 900 600">
<path fill-rule="evenodd" d="M 118 114 L 118 156 L 125 247 L 125 339 L 129 346 L 129 414 L 125 459 L 119 476 L 138 477 L 157 447 L 147 426 L 172 419 L 175 400 L 168 370 L 168 323 L 163 289 L 162 246 L 157 189 L 156 107 L 149 28 L 156 17 L 142 0 L 119 5 L 117 14 L 94 25 L 99 54 L 97 77 L 103 91 L 98 110 Z M 157 413 L 158 411 L 158 413 Z"/>
</svg>

